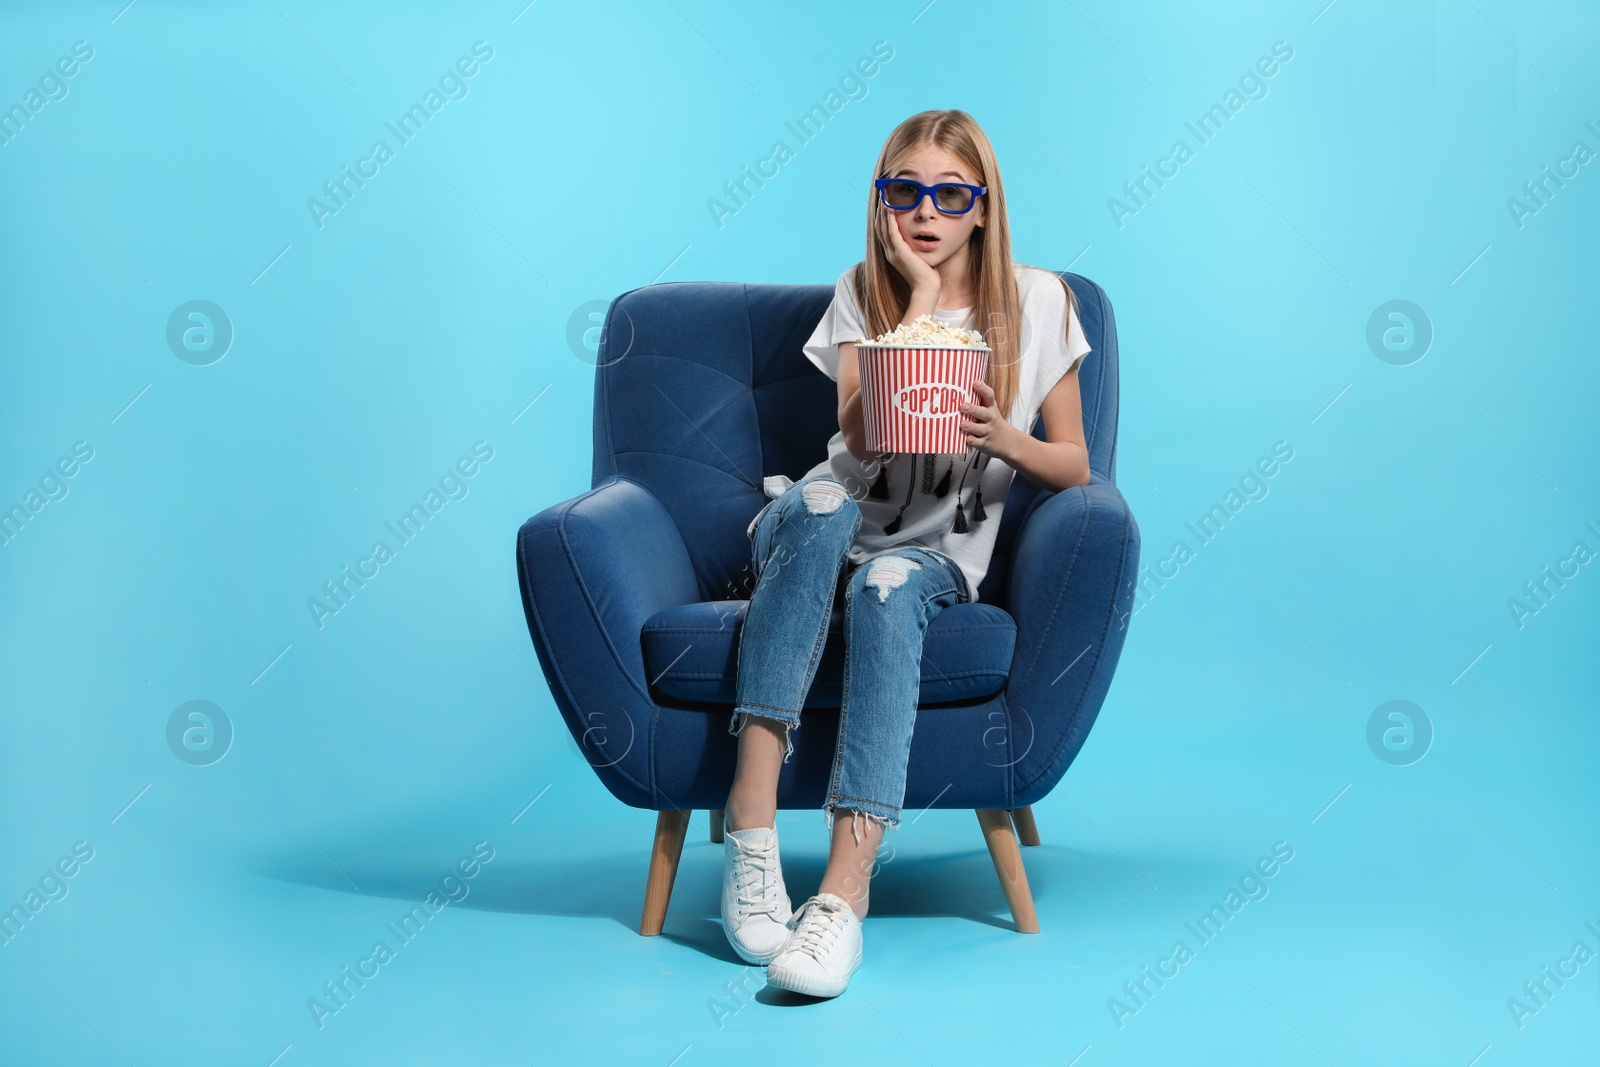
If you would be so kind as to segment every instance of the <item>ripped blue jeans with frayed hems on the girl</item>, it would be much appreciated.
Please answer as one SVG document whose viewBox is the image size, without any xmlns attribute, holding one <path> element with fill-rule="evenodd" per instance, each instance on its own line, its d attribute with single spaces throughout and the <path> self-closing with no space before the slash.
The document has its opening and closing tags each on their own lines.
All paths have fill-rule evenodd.
<svg viewBox="0 0 1600 1067">
<path fill-rule="evenodd" d="M 851 565 L 848 552 L 859 530 L 854 498 L 821 475 L 794 483 L 757 517 L 757 581 L 739 635 L 738 704 L 728 721 L 731 734 L 750 715 L 784 723 L 789 761 L 829 616 L 843 597 L 845 689 L 822 809 L 829 830 L 835 808 L 854 811 L 858 841 L 859 816 L 885 830 L 899 827 L 923 635 L 944 608 L 971 600 L 962 568 L 920 545 Z"/>
</svg>

